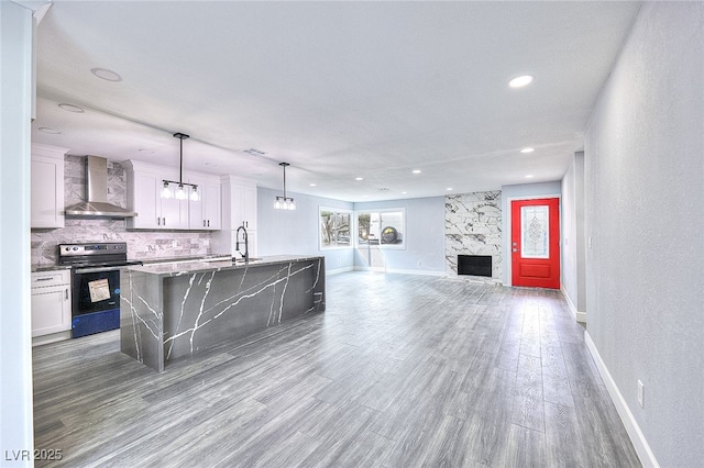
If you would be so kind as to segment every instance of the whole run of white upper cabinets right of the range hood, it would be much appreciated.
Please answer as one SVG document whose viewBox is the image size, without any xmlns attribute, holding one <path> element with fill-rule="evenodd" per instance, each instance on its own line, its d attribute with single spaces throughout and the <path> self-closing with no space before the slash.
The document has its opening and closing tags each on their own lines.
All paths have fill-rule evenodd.
<svg viewBox="0 0 704 468">
<path fill-rule="evenodd" d="M 138 215 L 128 219 L 128 227 L 135 230 L 198 230 L 220 229 L 220 180 L 217 176 L 184 172 L 184 182 L 197 183 L 199 200 L 162 198 L 164 179 L 177 180 L 175 169 L 128 160 L 128 208 Z M 193 180 L 193 181 L 191 181 Z M 172 188 L 175 188 L 172 183 Z M 186 186 L 190 194 L 191 188 Z"/>
</svg>

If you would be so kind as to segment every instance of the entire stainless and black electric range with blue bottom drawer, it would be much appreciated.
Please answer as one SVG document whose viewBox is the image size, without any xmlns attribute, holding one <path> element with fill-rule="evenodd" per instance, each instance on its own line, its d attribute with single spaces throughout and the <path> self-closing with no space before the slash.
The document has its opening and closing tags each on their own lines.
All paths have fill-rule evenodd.
<svg viewBox="0 0 704 468">
<path fill-rule="evenodd" d="M 58 265 L 72 267 L 72 336 L 120 327 L 120 269 L 128 260 L 124 242 L 59 244 Z"/>
</svg>

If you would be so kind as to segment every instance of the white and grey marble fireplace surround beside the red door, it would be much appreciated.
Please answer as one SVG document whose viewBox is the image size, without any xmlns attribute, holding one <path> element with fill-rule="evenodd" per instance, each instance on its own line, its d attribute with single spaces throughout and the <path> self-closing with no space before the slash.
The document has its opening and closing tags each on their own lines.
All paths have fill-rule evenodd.
<svg viewBox="0 0 704 468">
<path fill-rule="evenodd" d="M 491 255 L 491 278 L 466 278 L 492 283 L 502 282 L 504 265 L 501 190 L 447 196 L 444 236 L 448 275 L 458 276 L 458 255 Z"/>
</svg>

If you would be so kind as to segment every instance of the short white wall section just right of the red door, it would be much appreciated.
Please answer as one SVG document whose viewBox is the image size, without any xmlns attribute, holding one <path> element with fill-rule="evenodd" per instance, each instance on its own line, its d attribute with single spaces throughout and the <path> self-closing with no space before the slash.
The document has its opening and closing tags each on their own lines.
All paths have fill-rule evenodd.
<svg viewBox="0 0 704 468">
<path fill-rule="evenodd" d="M 586 322 L 584 152 L 575 153 L 562 178 L 562 290 L 580 322 Z"/>
</svg>

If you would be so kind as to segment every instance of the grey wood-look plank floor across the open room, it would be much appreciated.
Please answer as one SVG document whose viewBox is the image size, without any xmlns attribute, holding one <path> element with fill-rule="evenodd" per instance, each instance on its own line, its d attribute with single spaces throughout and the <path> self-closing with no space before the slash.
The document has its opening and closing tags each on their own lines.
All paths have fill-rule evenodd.
<svg viewBox="0 0 704 468">
<path fill-rule="evenodd" d="M 556 291 L 328 279 L 328 311 L 164 374 L 116 332 L 34 348 L 36 466 L 638 467 Z"/>
</svg>

